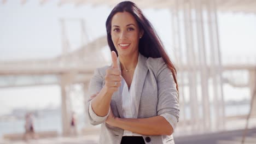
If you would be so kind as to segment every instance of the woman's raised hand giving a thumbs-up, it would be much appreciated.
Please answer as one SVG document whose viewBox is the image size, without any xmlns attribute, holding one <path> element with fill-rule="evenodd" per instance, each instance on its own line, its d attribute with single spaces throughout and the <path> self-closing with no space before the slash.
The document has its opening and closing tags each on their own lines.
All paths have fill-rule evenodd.
<svg viewBox="0 0 256 144">
<path fill-rule="evenodd" d="M 118 88 L 121 86 L 121 71 L 118 68 L 117 54 L 112 51 L 112 67 L 106 70 L 105 85 L 107 92 L 118 91 Z"/>
</svg>

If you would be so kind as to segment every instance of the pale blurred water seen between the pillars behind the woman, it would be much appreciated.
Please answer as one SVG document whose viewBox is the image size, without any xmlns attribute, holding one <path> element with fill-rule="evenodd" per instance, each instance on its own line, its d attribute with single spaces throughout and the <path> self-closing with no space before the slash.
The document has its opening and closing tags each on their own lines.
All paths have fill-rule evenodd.
<svg viewBox="0 0 256 144">
<path fill-rule="evenodd" d="M 190 118 L 190 109 L 186 107 L 186 116 Z M 246 115 L 249 112 L 249 104 L 226 105 L 226 116 Z M 182 116 L 182 115 L 181 115 Z M 182 118 L 182 117 L 181 117 Z M 50 113 L 44 117 L 35 118 L 34 125 L 36 131 L 54 130 L 61 134 L 61 113 Z M 0 121 L 0 136 L 10 133 L 24 133 L 24 119 Z M 78 131 L 85 127 L 84 115 L 78 115 Z"/>
</svg>

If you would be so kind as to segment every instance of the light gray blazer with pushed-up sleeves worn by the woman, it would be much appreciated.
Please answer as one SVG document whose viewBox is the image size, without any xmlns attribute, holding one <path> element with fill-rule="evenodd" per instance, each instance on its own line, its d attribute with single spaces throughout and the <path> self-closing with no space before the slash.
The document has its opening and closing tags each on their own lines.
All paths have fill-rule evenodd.
<svg viewBox="0 0 256 144">
<path fill-rule="evenodd" d="M 120 62 L 119 68 L 120 68 Z M 100 92 L 104 86 L 104 76 L 109 66 L 95 70 L 89 85 L 89 95 Z M 139 54 L 137 65 L 138 81 L 135 83 L 137 118 L 148 118 L 170 113 L 179 119 L 179 103 L 176 83 L 172 72 L 162 58 L 146 58 Z M 86 112 L 92 125 L 101 124 L 100 143 L 121 142 L 124 130 L 113 127 L 104 121 L 94 121 Z M 122 112 L 122 97 L 119 91 L 114 92 L 110 107 L 115 117 L 124 118 Z M 145 143 L 171 143 L 174 144 L 173 136 L 167 135 L 143 135 Z"/>
</svg>

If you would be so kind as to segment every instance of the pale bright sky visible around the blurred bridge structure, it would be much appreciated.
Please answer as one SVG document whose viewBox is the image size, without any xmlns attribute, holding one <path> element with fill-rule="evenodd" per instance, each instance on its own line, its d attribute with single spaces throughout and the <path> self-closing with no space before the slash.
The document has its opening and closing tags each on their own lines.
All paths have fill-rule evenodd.
<svg viewBox="0 0 256 144">
<path fill-rule="evenodd" d="M 0 3 L 0 61 L 49 58 L 61 53 L 60 20 L 66 19 L 71 50 L 80 40 L 80 23 L 85 20 L 88 41 L 106 35 L 105 21 L 111 8 L 72 4 L 57 6 L 56 1 L 39 5 L 39 1 Z M 165 47 L 171 47 L 171 17 L 168 10 L 143 9 Z M 218 13 L 220 48 L 226 63 L 256 63 L 256 14 Z M 234 90 L 230 90 L 233 91 Z M 235 90 L 242 99 L 248 92 Z M 246 91 L 246 90 L 245 90 Z M 233 99 L 226 94 L 226 99 Z M 34 86 L 0 89 L 0 115 L 15 107 L 45 107 L 60 104 L 59 86 Z"/>
</svg>

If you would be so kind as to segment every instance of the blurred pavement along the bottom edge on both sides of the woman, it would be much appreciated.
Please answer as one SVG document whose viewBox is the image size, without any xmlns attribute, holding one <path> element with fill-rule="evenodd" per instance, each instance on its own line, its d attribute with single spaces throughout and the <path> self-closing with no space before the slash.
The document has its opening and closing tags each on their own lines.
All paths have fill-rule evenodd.
<svg viewBox="0 0 256 144">
<path fill-rule="evenodd" d="M 176 144 L 241 144 L 243 130 L 231 130 L 216 133 L 174 136 Z M 98 143 L 98 134 L 79 135 L 73 137 L 52 137 L 28 141 L 9 141 L 1 140 L 0 144 L 96 144 Z M 256 143 L 256 128 L 249 129 L 244 144 Z M 156 143 L 157 144 L 157 143 Z"/>
</svg>

